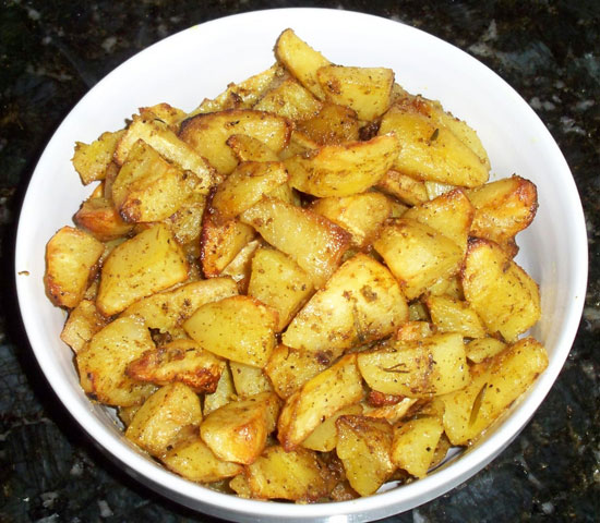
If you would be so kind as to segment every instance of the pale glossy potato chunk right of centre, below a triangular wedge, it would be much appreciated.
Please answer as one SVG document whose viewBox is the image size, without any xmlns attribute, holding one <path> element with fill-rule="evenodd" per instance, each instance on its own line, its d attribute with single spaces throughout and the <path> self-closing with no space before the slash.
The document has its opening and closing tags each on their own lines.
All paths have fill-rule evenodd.
<svg viewBox="0 0 600 523">
<path fill-rule="evenodd" d="M 454 241 L 406 218 L 384 226 L 373 246 L 409 300 L 419 297 L 437 280 L 455 275 L 463 262 L 463 252 Z"/>
</svg>

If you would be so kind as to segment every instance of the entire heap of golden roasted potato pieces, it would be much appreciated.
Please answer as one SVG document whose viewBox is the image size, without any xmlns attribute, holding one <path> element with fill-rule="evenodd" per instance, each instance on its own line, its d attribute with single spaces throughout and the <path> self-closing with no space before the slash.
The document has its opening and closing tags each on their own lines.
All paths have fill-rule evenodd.
<svg viewBox="0 0 600 523">
<path fill-rule="evenodd" d="M 300 503 L 411 482 L 548 364 L 514 262 L 538 206 L 477 133 L 291 29 L 192 112 L 77 143 L 89 197 L 46 248 L 81 386 L 192 482 Z M 129 115 L 128 115 L 129 117 Z"/>
</svg>

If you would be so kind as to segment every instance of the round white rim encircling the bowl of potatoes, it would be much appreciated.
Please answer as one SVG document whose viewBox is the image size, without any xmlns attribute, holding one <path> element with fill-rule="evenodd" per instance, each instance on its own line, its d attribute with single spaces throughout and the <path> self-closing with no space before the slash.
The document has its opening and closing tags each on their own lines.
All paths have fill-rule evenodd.
<svg viewBox="0 0 600 523">
<path fill-rule="evenodd" d="M 573 306 L 567 311 L 564 323 L 566 328 L 561 332 L 560 339 L 556 342 L 556 346 L 560 346 L 559 351 L 561 357 L 553 358 L 543 373 L 540 376 L 533 387 L 536 394 L 531 394 L 531 390 L 519 402 L 517 408 L 513 410 L 511 416 L 508 416 L 502 425 L 490 435 L 488 439 L 482 441 L 472 450 L 464 452 L 460 460 L 457 460 L 451 466 L 444 466 L 433 472 L 419 482 L 415 482 L 409 485 L 405 485 L 399 489 L 392 489 L 375 496 L 369 496 L 359 498 L 351 501 L 340 501 L 331 503 L 319 503 L 308 506 L 293 506 L 290 509 L 289 503 L 284 502 L 264 502 L 257 500 L 247 500 L 231 495 L 225 495 L 216 492 L 201 485 L 193 484 L 187 479 L 183 479 L 175 474 L 168 472 L 163 466 L 151 462 L 144 458 L 140 452 L 132 451 L 131 446 L 123 445 L 123 441 L 111 433 L 107 426 L 105 426 L 97 417 L 92 408 L 84 408 L 80 402 L 74 401 L 75 392 L 69 390 L 69 386 L 60 379 L 60 376 L 53 372 L 53 363 L 51 361 L 51 354 L 49 351 L 45 351 L 45 341 L 39 336 L 38 329 L 35 325 L 35 318 L 26 312 L 26 305 L 28 303 L 28 294 L 26 281 L 20 278 L 20 267 L 23 267 L 25 258 L 27 256 L 27 234 L 29 227 L 26 227 L 22 217 L 28 212 L 32 206 L 35 204 L 32 196 L 32 187 L 37 180 L 43 175 L 40 168 L 44 165 L 48 155 L 49 148 L 52 146 L 53 141 L 60 136 L 60 132 L 70 119 L 76 115 L 77 108 L 85 104 L 85 101 L 92 96 L 92 94 L 101 88 L 105 82 L 109 82 L 116 78 L 123 68 L 128 68 L 134 60 L 140 60 L 140 57 L 147 56 L 154 52 L 158 46 L 165 46 L 167 41 L 172 42 L 177 38 L 181 38 L 182 35 L 196 31 L 199 28 L 218 27 L 219 25 L 227 26 L 227 24 L 236 19 L 237 21 L 244 21 L 252 23 L 264 19 L 265 16 L 285 16 L 293 20 L 295 15 L 301 16 L 333 16 L 336 19 L 344 19 L 344 21 L 350 21 L 351 23 L 360 23 L 365 20 L 383 24 L 397 24 L 398 31 L 406 31 L 411 34 L 427 35 L 428 38 L 436 40 L 437 44 L 449 46 L 453 51 L 461 56 L 461 59 L 468 59 L 469 63 L 476 68 L 483 68 L 485 74 L 492 74 L 495 76 L 495 81 L 503 89 L 503 96 L 512 98 L 513 102 L 518 104 L 523 111 L 524 117 L 528 119 L 529 124 L 535 125 L 540 133 L 541 139 L 550 141 L 554 144 L 553 161 L 556 162 L 557 168 L 565 173 L 564 182 L 571 187 L 565 194 L 568 198 L 568 206 L 573 210 L 573 220 L 578 223 L 578 227 L 574 231 L 572 242 L 577 247 L 578 266 L 580 271 L 575 275 L 575 297 Z M 285 27 L 281 27 L 281 31 Z M 463 57 L 464 56 L 464 57 Z M 567 175 L 566 175 L 567 174 Z M 260 516 L 268 518 L 286 518 L 292 521 L 312 520 L 314 518 L 331 518 L 345 514 L 346 516 L 352 516 L 358 521 L 364 516 L 367 518 L 382 518 L 398 511 L 409 510 L 410 508 L 422 504 L 431 499 L 451 490 L 456 487 L 489 462 L 491 462 L 509 442 L 518 435 L 518 433 L 525 427 L 530 417 L 535 414 L 548 392 L 550 391 L 553 382 L 555 381 L 564 362 L 568 355 L 573 341 L 575 339 L 579 319 L 581 317 L 585 292 L 587 287 L 587 273 L 588 273 L 588 257 L 587 257 L 587 235 L 585 229 L 585 219 L 581 203 L 578 198 L 577 187 L 573 175 L 568 169 L 566 160 L 562 155 L 559 146 L 554 142 L 548 129 L 544 126 L 535 111 L 526 104 L 526 101 L 511 87 L 503 78 L 501 78 L 495 72 L 487 68 L 479 62 L 476 58 L 471 57 L 467 52 L 459 48 L 445 42 L 444 40 L 422 32 L 416 27 L 372 15 L 367 13 L 360 13 L 355 11 L 340 11 L 334 9 L 322 8 L 284 8 L 284 9 L 269 9 L 262 11 L 251 11 L 229 16 L 224 16 L 202 24 L 189 27 L 179 33 L 176 33 L 152 46 L 134 54 L 125 62 L 117 66 L 112 72 L 106 75 L 100 82 L 98 82 L 69 112 L 62 123 L 56 130 L 52 138 L 49 141 L 45 151 L 40 156 L 37 167 L 29 181 L 27 192 L 23 199 L 21 215 L 19 218 L 16 246 L 15 246 L 15 280 L 17 288 L 17 296 L 21 307 L 21 314 L 25 330 L 27 332 L 29 343 L 34 351 L 34 354 L 46 375 L 50 386 L 76 422 L 83 427 L 83 429 L 89 435 L 92 440 L 99 443 L 105 452 L 111 454 L 121 462 L 125 470 L 137 477 L 143 483 L 151 484 L 155 490 L 165 495 L 164 488 L 169 490 L 169 494 L 175 496 L 179 502 L 189 507 L 199 509 L 199 503 L 203 506 L 203 509 L 208 513 L 220 516 L 252 516 L 254 521 L 260 521 Z M 48 372 L 47 372 L 48 370 Z M 225 511 L 225 512 L 224 512 Z M 293 511 L 293 514 L 291 513 Z M 259 518 L 257 518 L 259 516 Z"/>
</svg>

